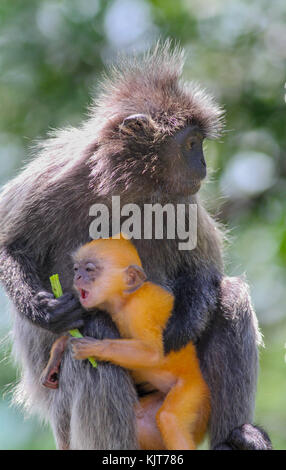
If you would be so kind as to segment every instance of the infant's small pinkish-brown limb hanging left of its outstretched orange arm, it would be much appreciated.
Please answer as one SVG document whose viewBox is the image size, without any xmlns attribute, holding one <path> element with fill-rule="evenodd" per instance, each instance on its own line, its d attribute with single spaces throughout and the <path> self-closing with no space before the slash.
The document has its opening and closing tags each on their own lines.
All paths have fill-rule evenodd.
<svg viewBox="0 0 286 470">
<path fill-rule="evenodd" d="M 59 386 L 60 364 L 68 339 L 67 335 L 60 336 L 52 346 L 49 362 L 41 376 L 41 383 L 45 387 L 56 389 Z"/>
</svg>

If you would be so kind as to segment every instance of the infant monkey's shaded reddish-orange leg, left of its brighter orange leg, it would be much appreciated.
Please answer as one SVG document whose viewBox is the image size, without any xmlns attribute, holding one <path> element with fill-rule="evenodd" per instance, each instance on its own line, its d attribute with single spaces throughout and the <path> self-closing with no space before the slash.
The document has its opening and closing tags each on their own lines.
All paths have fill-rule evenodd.
<svg viewBox="0 0 286 470">
<path fill-rule="evenodd" d="M 156 423 L 156 414 L 162 406 L 165 396 L 161 392 L 150 393 L 141 398 L 136 405 L 137 436 L 140 449 L 142 450 L 166 449 Z"/>
</svg>

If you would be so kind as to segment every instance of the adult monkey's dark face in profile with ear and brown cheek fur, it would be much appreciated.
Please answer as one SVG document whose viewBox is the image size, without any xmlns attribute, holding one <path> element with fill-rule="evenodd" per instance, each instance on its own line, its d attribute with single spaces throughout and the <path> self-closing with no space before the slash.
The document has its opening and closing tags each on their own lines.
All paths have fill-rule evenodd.
<svg viewBox="0 0 286 470">
<path fill-rule="evenodd" d="M 197 124 L 175 129 L 164 129 L 144 114 L 125 118 L 103 144 L 107 164 L 96 168 L 104 169 L 96 180 L 97 189 L 104 193 L 111 187 L 114 194 L 127 194 L 131 202 L 146 196 L 164 199 L 197 193 L 206 176 L 203 132 Z"/>
</svg>

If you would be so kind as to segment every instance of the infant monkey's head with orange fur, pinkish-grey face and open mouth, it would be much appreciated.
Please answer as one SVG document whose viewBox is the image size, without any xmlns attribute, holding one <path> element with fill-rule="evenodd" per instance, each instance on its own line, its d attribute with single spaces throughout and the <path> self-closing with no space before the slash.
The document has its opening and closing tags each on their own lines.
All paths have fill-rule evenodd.
<svg viewBox="0 0 286 470">
<path fill-rule="evenodd" d="M 118 310 L 146 280 L 136 249 L 123 237 L 86 243 L 73 259 L 74 288 L 86 309 Z"/>
</svg>

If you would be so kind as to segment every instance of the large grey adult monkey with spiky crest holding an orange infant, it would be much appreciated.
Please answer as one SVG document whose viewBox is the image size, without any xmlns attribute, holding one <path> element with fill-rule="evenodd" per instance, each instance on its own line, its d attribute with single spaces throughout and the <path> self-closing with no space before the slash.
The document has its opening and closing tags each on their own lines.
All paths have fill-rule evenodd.
<svg viewBox="0 0 286 470">
<path fill-rule="evenodd" d="M 2 192 L 0 273 L 16 307 L 14 346 L 23 368 L 17 396 L 51 422 L 61 449 L 136 448 L 136 394 L 125 371 L 104 363 L 93 369 L 67 353 L 59 390 L 39 384 L 58 334 L 81 327 L 88 336 L 117 335 L 103 312 L 85 316 L 71 293 L 70 253 L 89 239 L 91 205 L 110 205 L 112 195 L 122 205 L 198 203 L 196 249 L 135 240 L 150 280 L 176 297 L 165 350 L 190 339 L 197 345 L 212 395 L 212 448 L 271 447 L 250 424 L 260 335 L 247 286 L 223 276 L 222 236 L 196 195 L 206 173 L 202 139 L 219 134 L 222 111 L 179 82 L 182 64 L 169 44 L 126 60 L 104 81 L 89 119 L 43 142 Z M 57 300 L 49 293 L 55 272 L 66 292 Z"/>
</svg>

